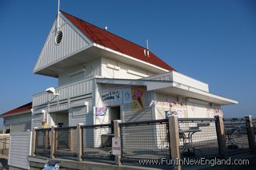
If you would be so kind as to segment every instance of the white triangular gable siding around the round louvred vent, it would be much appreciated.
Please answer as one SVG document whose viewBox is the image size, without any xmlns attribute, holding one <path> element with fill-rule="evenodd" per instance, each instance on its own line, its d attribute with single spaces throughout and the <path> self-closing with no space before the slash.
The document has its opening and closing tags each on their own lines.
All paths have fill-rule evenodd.
<svg viewBox="0 0 256 170">
<path fill-rule="evenodd" d="M 71 24 L 62 14 L 59 18 L 60 29 L 63 37 L 62 42 L 58 45 L 55 44 L 55 36 L 57 33 L 56 20 L 50 30 L 50 34 L 46 39 L 45 45 L 42 47 L 42 51 L 38 57 L 38 61 L 34 66 L 34 73 L 37 73 L 40 69 L 46 68 L 54 64 L 57 61 L 61 61 L 70 54 L 79 52 L 86 47 L 90 47 L 92 44 L 90 39 L 86 38 L 73 24 Z"/>
</svg>

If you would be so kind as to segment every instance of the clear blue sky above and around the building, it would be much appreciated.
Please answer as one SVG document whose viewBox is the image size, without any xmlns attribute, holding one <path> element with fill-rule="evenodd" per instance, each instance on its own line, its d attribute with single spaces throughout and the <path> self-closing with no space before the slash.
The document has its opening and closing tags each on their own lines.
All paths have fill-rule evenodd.
<svg viewBox="0 0 256 170">
<path fill-rule="evenodd" d="M 0 0 L 0 113 L 56 86 L 34 75 L 57 14 L 57 0 Z M 76 1 L 61 10 L 150 49 L 180 73 L 204 81 L 210 92 L 238 100 L 225 117 L 256 117 L 256 1 Z"/>
</svg>

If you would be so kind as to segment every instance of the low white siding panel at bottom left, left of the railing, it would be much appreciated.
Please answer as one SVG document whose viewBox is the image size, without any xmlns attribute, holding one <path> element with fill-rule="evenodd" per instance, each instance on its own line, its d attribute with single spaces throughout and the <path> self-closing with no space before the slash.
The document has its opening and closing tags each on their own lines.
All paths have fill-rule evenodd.
<svg viewBox="0 0 256 170">
<path fill-rule="evenodd" d="M 11 132 L 8 165 L 29 169 L 27 156 L 30 155 L 31 132 Z"/>
</svg>

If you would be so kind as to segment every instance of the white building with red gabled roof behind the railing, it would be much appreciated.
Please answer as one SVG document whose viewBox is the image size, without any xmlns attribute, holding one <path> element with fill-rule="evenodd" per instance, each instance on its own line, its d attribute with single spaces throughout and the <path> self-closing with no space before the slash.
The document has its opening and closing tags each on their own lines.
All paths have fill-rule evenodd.
<svg viewBox="0 0 256 170">
<path fill-rule="evenodd" d="M 210 93 L 206 83 L 178 73 L 146 48 L 62 11 L 34 73 L 58 78 L 58 87 L 34 94 L 31 128 L 42 120 L 51 127 L 157 120 L 168 113 L 214 117 L 222 105 L 238 104 Z M 11 165 L 25 160 L 26 154 L 14 156 Z"/>
</svg>

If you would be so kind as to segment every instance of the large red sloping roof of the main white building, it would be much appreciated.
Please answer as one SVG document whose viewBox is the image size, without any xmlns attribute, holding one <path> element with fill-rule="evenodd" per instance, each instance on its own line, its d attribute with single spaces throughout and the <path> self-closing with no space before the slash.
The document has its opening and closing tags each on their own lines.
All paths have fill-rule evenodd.
<svg viewBox="0 0 256 170">
<path fill-rule="evenodd" d="M 137 58 L 141 61 L 146 61 L 152 65 L 157 65 L 162 69 L 174 70 L 170 65 L 167 65 L 166 62 L 162 61 L 159 57 L 155 56 L 154 53 L 150 52 L 150 57 L 144 56 L 144 49 L 140 45 L 136 45 L 133 42 L 130 42 L 124 38 L 120 38 L 118 35 L 112 34 L 109 31 L 103 30 L 98 26 L 94 26 L 88 22 L 82 21 L 82 19 L 76 18 L 71 14 L 67 14 L 61 11 L 62 14 L 66 16 L 74 24 L 77 26 L 79 30 L 82 30 L 84 34 L 92 42 L 95 42 L 98 45 L 105 46 L 109 49 L 113 49 L 120 53 L 125 53 L 130 57 Z"/>
</svg>

